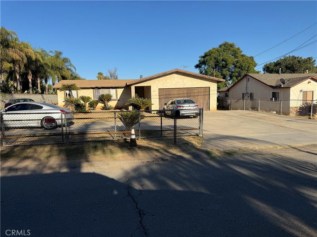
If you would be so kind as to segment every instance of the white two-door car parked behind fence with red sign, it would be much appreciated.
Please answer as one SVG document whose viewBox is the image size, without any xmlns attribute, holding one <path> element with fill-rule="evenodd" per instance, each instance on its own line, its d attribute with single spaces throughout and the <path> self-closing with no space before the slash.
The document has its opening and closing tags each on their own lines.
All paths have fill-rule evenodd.
<svg viewBox="0 0 317 237">
<path fill-rule="evenodd" d="M 42 102 L 21 102 L 0 111 L 5 127 L 41 127 L 55 129 L 61 125 L 61 116 L 67 123 L 72 122 L 74 114 L 68 108 Z"/>
</svg>

